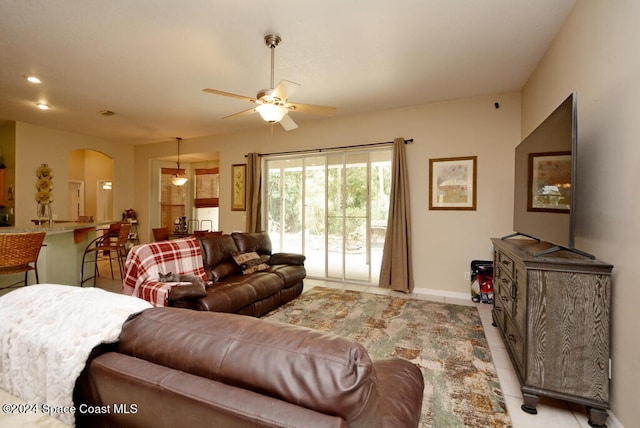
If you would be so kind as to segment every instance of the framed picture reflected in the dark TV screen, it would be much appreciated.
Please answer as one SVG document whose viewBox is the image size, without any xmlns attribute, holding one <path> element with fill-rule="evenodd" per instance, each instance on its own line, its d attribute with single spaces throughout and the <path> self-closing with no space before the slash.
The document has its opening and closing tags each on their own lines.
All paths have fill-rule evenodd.
<svg viewBox="0 0 640 428">
<path fill-rule="evenodd" d="M 571 152 L 529 153 L 527 189 L 527 211 L 568 213 Z"/>
</svg>

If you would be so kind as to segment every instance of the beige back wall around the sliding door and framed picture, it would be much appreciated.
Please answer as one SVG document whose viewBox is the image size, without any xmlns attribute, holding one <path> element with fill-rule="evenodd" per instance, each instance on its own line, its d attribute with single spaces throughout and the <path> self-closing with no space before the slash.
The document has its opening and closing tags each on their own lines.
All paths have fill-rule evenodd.
<svg viewBox="0 0 640 428">
<path fill-rule="evenodd" d="M 496 109 L 494 102 L 500 102 Z M 256 120 L 259 120 L 256 118 Z M 491 259 L 489 238 L 511 232 L 513 149 L 520 142 L 520 95 L 500 94 L 345 118 L 326 119 L 284 132 L 268 126 L 226 136 L 184 140 L 182 153 L 219 152 L 220 228 L 243 230 L 245 215 L 231 211 L 230 168 L 249 152 L 335 147 L 413 138 L 407 146 L 416 287 L 469 295 L 463 279 L 472 259 Z M 167 142 L 135 148 L 135 199 L 149 224 L 151 160 L 175 154 Z M 429 211 L 429 158 L 478 156 L 478 210 Z M 225 203 L 225 201 L 227 201 Z M 151 210 L 153 211 L 153 210 Z M 149 240 L 150 227 L 141 228 Z M 144 235 L 143 235 L 144 234 Z"/>
</svg>

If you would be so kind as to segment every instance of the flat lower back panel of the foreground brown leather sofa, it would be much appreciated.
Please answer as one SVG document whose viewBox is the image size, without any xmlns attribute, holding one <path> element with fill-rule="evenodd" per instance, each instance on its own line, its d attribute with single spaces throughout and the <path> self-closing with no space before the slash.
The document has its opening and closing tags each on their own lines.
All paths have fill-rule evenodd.
<svg viewBox="0 0 640 428">
<path fill-rule="evenodd" d="M 78 382 L 76 408 L 86 403 L 93 409 L 111 406 L 111 411 L 77 412 L 78 428 L 347 428 L 337 416 L 117 352 L 100 355 L 88 365 Z M 137 409 L 117 412 L 113 403 L 135 403 Z"/>
</svg>

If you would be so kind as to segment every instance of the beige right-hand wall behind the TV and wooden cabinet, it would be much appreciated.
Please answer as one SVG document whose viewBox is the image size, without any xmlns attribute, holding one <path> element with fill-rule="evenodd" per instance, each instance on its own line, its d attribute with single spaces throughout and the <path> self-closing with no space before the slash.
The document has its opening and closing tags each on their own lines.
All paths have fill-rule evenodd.
<svg viewBox="0 0 640 428">
<path fill-rule="evenodd" d="M 578 95 L 576 246 L 612 263 L 612 411 L 640 420 L 640 2 L 578 0 L 522 91 L 522 135 Z"/>
</svg>

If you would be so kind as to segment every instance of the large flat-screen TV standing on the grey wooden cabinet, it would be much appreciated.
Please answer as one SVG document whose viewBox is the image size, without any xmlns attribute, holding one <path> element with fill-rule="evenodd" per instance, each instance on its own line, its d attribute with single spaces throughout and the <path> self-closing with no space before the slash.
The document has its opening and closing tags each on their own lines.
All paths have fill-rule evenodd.
<svg viewBox="0 0 640 428">
<path fill-rule="evenodd" d="M 575 249 L 577 101 L 571 94 L 522 143 L 515 154 L 513 235 L 553 244 L 538 255 Z M 507 238 L 505 237 L 505 238 Z"/>
</svg>

